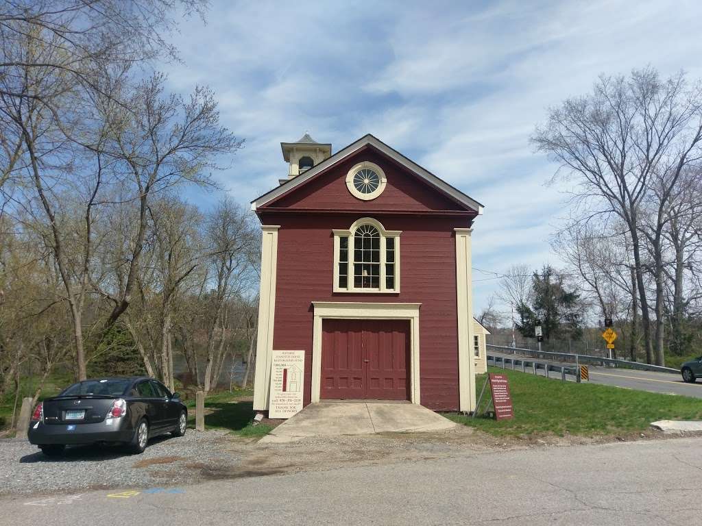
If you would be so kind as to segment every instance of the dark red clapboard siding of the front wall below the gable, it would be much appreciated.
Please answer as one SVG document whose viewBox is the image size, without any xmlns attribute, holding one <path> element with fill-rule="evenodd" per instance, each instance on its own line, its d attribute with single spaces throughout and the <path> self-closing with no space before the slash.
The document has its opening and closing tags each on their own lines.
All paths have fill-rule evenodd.
<svg viewBox="0 0 702 526">
<path fill-rule="evenodd" d="M 345 186 L 344 191 L 348 194 Z M 383 223 L 386 229 L 402 230 L 399 294 L 332 292 L 332 229 L 347 229 L 366 215 Z M 421 304 L 420 401 L 434 410 L 458 409 L 453 229 L 468 227 L 468 220 L 455 216 L 398 216 L 365 211 L 357 215 L 310 215 L 261 210 L 260 217 L 263 224 L 280 225 L 273 346 L 274 349 L 305 350 L 305 405 L 310 403 L 312 386 L 312 302 L 417 302 Z"/>
</svg>

